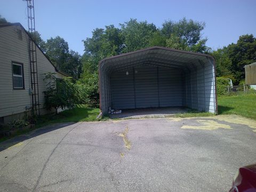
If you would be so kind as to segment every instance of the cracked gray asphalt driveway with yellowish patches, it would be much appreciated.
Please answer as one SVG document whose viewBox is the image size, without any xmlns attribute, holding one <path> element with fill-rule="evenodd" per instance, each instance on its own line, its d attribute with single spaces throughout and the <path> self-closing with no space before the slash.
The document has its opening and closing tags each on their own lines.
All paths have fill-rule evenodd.
<svg viewBox="0 0 256 192">
<path fill-rule="evenodd" d="M 237 116 L 58 124 L 0 144 L 0 191 L 228 191 L 256 163 Z"/>
</svg>

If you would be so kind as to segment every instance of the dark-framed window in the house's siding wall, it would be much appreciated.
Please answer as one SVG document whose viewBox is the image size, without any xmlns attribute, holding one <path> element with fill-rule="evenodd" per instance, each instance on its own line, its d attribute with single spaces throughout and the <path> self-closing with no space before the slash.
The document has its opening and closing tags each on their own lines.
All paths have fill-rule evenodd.
<svg viewBox="0 0 256 192">
<path fill-rule="evenodd" d="M 12 62 L 13 89 L 24 89 L 23 63 Z"/>
</svg>

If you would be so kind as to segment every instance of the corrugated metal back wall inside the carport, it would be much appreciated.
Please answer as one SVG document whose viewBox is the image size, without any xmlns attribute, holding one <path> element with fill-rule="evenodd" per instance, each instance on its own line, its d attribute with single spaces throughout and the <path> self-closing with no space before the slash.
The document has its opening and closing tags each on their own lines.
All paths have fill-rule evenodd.
<svg viewBox="0 0 256 192">
<path fill-rule="evenodd" d="M 128 71 L 128 75 L 126 75 Z M 111 108 L 184 106 L 183 70 L 150 65 L 111 74 Z"/>
</svg>

